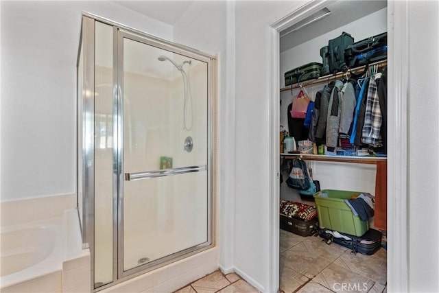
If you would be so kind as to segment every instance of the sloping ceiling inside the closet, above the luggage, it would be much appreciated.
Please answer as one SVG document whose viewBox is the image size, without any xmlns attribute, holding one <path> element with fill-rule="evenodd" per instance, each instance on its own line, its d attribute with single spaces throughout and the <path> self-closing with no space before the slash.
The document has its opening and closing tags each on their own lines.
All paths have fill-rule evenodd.
<svg viewBox="0 0 439 293">
<path fill-rule="evenodd" d="M 332 2 L 327 5 L 327 8 L 331 11 L 329 16 L 320 21 L 316 21 L 316 23 L 311 23 L 296 32 L 283 36 L 280 41 L 281 52 L 296 47 L 301 43 L 305 43 L 307 40 L 331 32 L 332 30 L 337 29 L 337 27 L 361 19 L 361 17 L 385 7 L 387 7 L 387 1 L 343 0 Z"/>
</svg>

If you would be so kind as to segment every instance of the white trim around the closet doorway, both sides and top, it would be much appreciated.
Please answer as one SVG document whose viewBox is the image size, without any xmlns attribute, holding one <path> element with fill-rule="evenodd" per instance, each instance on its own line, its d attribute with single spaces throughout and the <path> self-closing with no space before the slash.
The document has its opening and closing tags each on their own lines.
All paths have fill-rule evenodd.
<svg viewBox="0 0 439 293">
<path fill-rule="evenodd" d="M 281 19 L 268 24 L 268 68 L 270 73 L 270 223 L 268 285 L 279 288 L 279 33 L 333 1 L 311 0 Z M 407 92 L 409 63 L 407 0 L 388 1 L 388 291 L 407 292 Z M 396 50 L 395 48 L 398 48 Z M 397 146 L 397 147 L 396 147 Z"/>
</svg>

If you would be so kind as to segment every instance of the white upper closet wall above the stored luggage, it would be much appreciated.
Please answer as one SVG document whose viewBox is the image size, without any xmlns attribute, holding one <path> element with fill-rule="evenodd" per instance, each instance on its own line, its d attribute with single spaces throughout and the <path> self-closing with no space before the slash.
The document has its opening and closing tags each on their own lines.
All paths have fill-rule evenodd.
<svg viewBox="0 0 439 293">
<path fill-rule="evenodd" d="M 322 63 L 320 48 L 327 46 L 328 40 L 337 38 L 342 32 L 351 34 L 354 42 L 387 32 L 387 8 L 378 10 L 361 19 L 357 19 L 357 21 L 343 25 L 337 28 L 337 30 L 327 32 L 322 34 L 322 36 L 281 52 L 281 87 L 285 86 L 285 79 L 283 78 L 285 72 L 309 62 Z"/>
</svg>

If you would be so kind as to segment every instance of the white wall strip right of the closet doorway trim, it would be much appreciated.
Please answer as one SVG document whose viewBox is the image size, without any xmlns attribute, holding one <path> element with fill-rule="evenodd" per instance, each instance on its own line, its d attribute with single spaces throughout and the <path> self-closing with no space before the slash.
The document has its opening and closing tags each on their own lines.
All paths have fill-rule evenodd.
<svg viewBox="0 0 439 293">
<path fill-rule="evenodd" d="M 439 3 L 408 1 L 410 292 L 439 292 Z M 422 142 L 421 147 L 419 143 Z"/>
</svg>

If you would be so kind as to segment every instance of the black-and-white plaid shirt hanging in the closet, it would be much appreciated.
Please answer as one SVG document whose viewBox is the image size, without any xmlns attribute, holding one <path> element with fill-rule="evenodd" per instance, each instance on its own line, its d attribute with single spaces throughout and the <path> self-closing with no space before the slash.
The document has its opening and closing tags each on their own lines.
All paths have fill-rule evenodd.
<svg viewBox="0 0 439 293">
<path fill-rule="evenodd" d="M 363 133 L 361 136 L 361 142 L 369 145 L 375 145 L 378 143 L 379 130 L 383 122 L 383 115 L 381 115 L 381 108 L 379 108 L 377 88 L 375 78 L 370 78 Z"/>
</svg>

